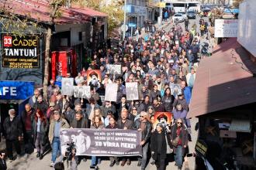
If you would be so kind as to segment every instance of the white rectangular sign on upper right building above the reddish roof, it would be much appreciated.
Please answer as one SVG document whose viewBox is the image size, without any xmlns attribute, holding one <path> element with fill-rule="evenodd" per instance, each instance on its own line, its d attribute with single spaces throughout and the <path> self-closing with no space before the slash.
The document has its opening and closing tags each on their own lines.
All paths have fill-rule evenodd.
<svg viewBox="0 0 256 170">
<path fill-rule="evenodd" d="M 237 19 L 215 19 L 215 37 L 237 37 Z"/>
</svg>

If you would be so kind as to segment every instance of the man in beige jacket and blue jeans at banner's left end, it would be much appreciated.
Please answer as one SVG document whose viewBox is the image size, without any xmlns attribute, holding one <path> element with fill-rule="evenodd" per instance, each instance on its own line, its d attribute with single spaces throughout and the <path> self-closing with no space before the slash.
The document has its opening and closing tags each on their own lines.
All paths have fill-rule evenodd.
<svg viewBox="0 0 256 170">
<path fill-rule="evenodd" d="M 51 167 L 54 167 L 57 153 L 61 153 L 60 131 L 62 128 L 70 128 L 70 125 L 64 118 L 61 118 L 61 112 L 59 110 L 54 110 L 54 118 L 50 121 L 50 128 L 48 134 L 50 145 L 53 149 L 50 162 Z"/>
</svg>

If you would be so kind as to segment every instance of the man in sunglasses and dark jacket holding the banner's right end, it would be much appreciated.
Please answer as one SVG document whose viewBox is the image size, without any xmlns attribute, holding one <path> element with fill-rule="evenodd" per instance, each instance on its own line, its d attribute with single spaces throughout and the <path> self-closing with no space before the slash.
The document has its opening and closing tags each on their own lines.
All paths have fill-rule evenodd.
<svg viewBox="0 0 256 170">
<path fill-rule="evenodd" d="M 149 138 L 151 133 L 151 124 L 147 121 L 147 112 L 142 111 L 140 113 L 140 119 L 137 119 L 133 124 L 133 129 L 141 131 L 140 145 L 142 146 L 142 158 L 138 158 L 138 166 L 141 166 L 141 170 L 145 170 L 147 163 L 147 151 L 149 146 Z"/>
</svg>

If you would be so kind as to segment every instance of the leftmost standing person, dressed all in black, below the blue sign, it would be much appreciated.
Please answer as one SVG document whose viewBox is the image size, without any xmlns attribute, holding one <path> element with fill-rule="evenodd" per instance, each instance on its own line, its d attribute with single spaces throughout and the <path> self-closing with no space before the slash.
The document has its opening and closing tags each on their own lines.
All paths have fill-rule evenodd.
<svg viewBox="0 0 256 170">
<path fill-rule="evenodd" d="M 12 153 L 13 145 L 15 146 L 18 154 L 17 158 L 19 158 L 21 153 L 19 141 L 22 139 L 22 124 L 19 117 L 16 117 L 16 110 L 9 110 L 9 117 L 5 118 L 3 127 L 5 130 L 7 156 L 12 161 L 14 160 Z"/>
</svg>

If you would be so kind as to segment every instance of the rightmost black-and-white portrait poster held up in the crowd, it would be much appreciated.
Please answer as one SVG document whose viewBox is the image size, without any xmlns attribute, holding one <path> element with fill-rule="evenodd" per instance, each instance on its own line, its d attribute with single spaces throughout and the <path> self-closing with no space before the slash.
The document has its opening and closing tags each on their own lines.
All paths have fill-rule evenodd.
<svg viewBox="0 0 256 170">
<path fill-rule="evenodd" d="M 138 83 L 126 83 L 126 99 L 127 100 L 139 100 Z"/>
</svg>

